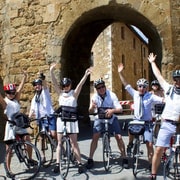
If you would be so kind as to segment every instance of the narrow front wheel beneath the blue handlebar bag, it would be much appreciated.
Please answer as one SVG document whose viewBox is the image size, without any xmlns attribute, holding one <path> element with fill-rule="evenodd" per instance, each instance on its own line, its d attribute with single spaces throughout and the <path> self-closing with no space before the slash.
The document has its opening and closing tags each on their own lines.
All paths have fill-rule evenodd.
<svg viewBox="0 0 180 180">
<path fill-rule="evenodd" d="M 132 154 L 133 154 L 133 175 L 136 177 L 138 168 L 139 168 L 139 142 L 138 140 L 135 140 L 133 149 L 132 149 Z"/>
</svg>

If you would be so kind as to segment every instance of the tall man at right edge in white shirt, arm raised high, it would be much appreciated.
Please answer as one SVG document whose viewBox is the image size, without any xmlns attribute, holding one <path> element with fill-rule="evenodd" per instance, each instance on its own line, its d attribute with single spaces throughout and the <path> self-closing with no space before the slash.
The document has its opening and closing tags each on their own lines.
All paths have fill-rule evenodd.
<svg viewBox="0 0 180 180">
<path fill-rule="evenodd" d="M 148 56 L 152 71 L 159 81 L 165 94 L 165 107 L 162 112 L 162 125 L 159 130 L 156 149 L 152 159 L 151 179 L 156 179 L 163 151 L 170 145 L 171 137 L 176 133 L 180 122 L 180 69 L 172 72 L 173 84 L 169 84 L 162 76 L 155 60 L 156 55 L 150 53 Z"/>
</svg>

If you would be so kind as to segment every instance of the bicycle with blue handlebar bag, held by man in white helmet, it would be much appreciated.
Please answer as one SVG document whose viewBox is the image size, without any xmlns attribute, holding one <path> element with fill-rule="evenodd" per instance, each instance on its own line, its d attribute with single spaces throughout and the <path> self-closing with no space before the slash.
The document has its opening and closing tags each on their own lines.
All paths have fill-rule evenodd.
<svg viewBox="0 0 180 180">
<path fill-rule="evenodd" d="M 143 143 L 143 134 L 145 131 L 145 121 L 133 120 L 129 122 L 128 130 L 131 135 L 134 136 L 132 147 L 132 159 L 133 159 L 133 175 L 136 177 L 140 171 L 139 160 L 143 156 L 144 152 L 141 150 L 141 144 Z"/>
</svg>

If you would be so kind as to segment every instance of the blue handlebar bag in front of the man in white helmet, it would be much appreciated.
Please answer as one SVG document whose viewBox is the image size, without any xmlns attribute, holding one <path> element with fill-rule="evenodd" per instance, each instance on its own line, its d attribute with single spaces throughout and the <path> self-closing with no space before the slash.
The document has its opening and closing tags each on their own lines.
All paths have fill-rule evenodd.
<svg viewBox="0 0 180 180">
<path fill-rule="evenodd" d="M 128 130 L 132 135 L 142 135 L 144 134 L 145 127 L 142 124 L 130 124 Z"/>
</svg>

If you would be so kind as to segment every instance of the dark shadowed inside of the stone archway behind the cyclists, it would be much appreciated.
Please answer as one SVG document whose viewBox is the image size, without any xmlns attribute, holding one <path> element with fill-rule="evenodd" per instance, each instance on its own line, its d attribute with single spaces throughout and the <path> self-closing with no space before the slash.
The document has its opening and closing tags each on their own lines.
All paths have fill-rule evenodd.
<svg viewBox="0 0 180 180">
<path fill-rule="evenodd" d="M 123 22 L 138 27 L 149 38 L 149 51 L 157 54 L 160 66 L 162 43 L 156 27 L 133 7 L 113 2 L 83 13 L 70 27 L 62 45 L 62 76 L 69 76 L 76 81 L 75 84 L 78 83 L 85 69 L 90 66 L 93 43 L 98 35 L 113 22 Z M 82 111 L 86 111 L 89 106 L 88 95 L 89 82 L 87 81 L 79 98 L 81 106 L 84 107 Z"/>
</svg>

